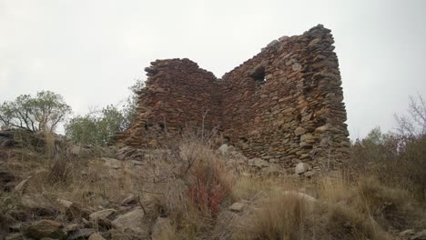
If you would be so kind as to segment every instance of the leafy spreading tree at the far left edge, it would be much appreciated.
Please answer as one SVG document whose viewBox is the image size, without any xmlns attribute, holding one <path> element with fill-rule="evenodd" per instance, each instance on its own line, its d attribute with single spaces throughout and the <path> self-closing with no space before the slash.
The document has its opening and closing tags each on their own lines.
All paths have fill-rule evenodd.
<svg viewBox="0 0 426 240">
<path fill-rule="evenodd" d="M 71 107 L 62 95 L 41 91 L 35 97 L 19 95 L 15 101 L 0 105 L 0 123 L 32 132 L 54 132 L 70 113 Z"/>
</svg>

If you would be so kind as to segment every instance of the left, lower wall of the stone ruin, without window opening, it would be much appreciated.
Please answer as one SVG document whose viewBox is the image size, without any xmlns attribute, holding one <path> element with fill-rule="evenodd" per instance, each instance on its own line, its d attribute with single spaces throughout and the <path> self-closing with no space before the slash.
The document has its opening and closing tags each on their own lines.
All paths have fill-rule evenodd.
<svg viewBox="0 0 426 240">
<path fill-rule="evenodd" d="M 218 79 L 189 59 L 157 60 L 145 68 L 137 118 L 118 142 L 157 147 L 184 131 L 220 125 Z M 204 117 L 205 116 L 205 117 Z"/>
</svg>

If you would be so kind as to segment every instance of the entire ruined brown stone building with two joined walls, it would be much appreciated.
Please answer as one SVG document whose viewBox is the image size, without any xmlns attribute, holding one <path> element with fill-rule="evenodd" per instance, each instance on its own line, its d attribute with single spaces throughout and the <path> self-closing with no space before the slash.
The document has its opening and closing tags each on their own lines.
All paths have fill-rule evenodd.
<svg viewBox="0 0 426 240">
<path fill-rule="evenodd" d="M 214 129 L 244 155 L 285 168 L 339 167 L 350 141 L 333 43 L 322 25 L 282 36 L 221 79 L 187 58 L 152 62 L 136 121 L 117 142 L 157 147 Z"/>
</svg>

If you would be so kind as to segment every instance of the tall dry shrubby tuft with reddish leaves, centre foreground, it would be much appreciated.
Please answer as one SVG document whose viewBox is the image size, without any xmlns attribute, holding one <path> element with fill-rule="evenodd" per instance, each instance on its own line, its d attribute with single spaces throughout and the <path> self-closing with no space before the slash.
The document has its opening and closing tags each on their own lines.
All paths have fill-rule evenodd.
<svg viewBox="0 0 426 240">
<path fill-rule="evenodd" d="M 160 205 L 176 228 L 176 239 L 198 239 L 218 220 L 235 182 L 209 140 L 182 139 L 174 175 L 169 175 Z M 176 160 L 176 159 L 175 159 Z"/>
</svg>

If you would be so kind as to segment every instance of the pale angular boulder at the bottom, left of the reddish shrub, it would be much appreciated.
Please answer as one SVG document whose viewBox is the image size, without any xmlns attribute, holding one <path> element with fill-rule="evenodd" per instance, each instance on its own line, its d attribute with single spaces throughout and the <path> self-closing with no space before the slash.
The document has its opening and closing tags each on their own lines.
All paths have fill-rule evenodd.
<svg viewBox="0 0 426 240">
<path fill-rule="evenodd" d="M 137 235 L 147 235 L 147 228 L 143 224 L 144 216 L 143 209 L 136 207 L 127 214 L 118 215 L 111 224 L 123 232 L 130 231 Z"/>
</svg>

